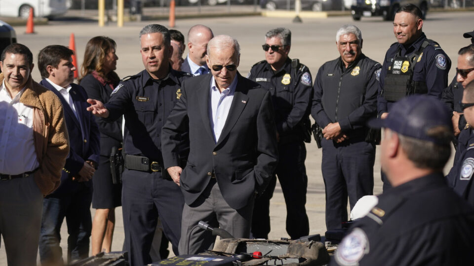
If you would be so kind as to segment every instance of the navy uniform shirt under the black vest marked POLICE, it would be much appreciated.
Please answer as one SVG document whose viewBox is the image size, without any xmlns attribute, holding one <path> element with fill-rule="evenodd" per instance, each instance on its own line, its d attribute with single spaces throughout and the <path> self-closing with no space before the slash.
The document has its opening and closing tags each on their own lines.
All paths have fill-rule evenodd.
<svg viewBox="0 0 474 266">
<path fill-rule="evenodd" d="M 421 47 L 423 42 L 427 39 L 425 33 L 408 47 L 395 42 L 390 46 L 385 54 L 385 60 L 380 72 L 380 86 L 377 95 L 377 113 L 380 117 L 382 113 L 390 112 L 393 102 L 387 102 L 384 99 L 382 92 L 385 85 L 385 77 L 389 66 L 392 65 L 393 58 L 397 55 L 398 49 L 401 49 L 401 56 L 408 56 Z M 451 60 L 444 53 L 438 44 L 431 43 L 424 50 L 420 56 L 419 61 L 415 65 L 413 73 L 413 81 L 426 82 L 428 87 L 428 95 L 441 99 L 441 94 L 448 84 L 448 72 L 451 68 Z"/>
</svg>

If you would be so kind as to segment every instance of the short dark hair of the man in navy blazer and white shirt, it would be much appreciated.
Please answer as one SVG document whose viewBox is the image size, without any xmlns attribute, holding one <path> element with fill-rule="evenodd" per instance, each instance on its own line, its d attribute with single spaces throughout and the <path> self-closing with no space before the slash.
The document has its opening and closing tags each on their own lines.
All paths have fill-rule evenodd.
<svg viewBox="0 0 474 266">
<path fill-rule="evenodd" d="M 69 60 L 74 55 L 73 50 L 63 45 L 48 45 L 38 54 L 38 68 L 41 78 L 49 77 L 47 66 L 57 68 L 61 59 Z"/>
</svg>

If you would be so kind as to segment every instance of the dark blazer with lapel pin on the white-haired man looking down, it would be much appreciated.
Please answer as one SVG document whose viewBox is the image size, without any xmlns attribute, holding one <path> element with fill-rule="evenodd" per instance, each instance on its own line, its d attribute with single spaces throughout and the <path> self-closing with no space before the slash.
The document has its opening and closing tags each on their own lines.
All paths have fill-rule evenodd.
<svg viewBox="0 0 474 266">
<path fill-rule="evenodd" d="M 237 88 L 226 123 L 214 142 L 209 121 L 212 75 L 185 80 L 182 96 L 161 131 L 164 167 L 179 165 L 179 134 L 189 123 L 190 154 L 181 173 L 188 205 L 201 195 L 215 174 L 222 196 L 234 209 L 262 192 L 276 168 L 278 151 L 271 95 L 237 73 Z"/>
</svg>

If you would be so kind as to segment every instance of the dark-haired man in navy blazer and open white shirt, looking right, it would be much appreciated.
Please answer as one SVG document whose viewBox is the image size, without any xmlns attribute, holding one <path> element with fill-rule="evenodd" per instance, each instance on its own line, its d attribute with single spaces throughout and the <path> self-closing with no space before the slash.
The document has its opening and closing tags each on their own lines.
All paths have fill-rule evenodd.
<svg viewBox="0 0 474 266">
<path fill-rule="evenodd" d="M 100 135 L 91 113 L 87 112 L 87 94 L 76 85 L 74 52 L 62 45 L 49 45 L 40 51 L 38 66 L 41 85 L 54 92 L 63 104 L 69 132 L 70 152 L 61 175 L 61 185 L 43 200 L 40 234 L 42 265 L 61 265 L 61 224 L 68 225 L 68 263 L 89 256 L 92 227 L 90 203 L 92 182 L 99 162 Z"/>
</svg>

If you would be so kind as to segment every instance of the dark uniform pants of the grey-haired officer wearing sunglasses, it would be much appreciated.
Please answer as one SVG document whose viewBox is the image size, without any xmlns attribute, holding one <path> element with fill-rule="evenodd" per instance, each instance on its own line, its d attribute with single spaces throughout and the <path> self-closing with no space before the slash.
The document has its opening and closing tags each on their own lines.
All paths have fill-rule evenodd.
<svg viewBox="0 0 474 266">
<path fill-rule="evenodd" d="M 278 145 L 279 160 L 276 176 L 281 185 L 286 203 L 286 232 L 292 239 L 308 235 L 310 226 L 306 215 L 306 146 L 303 141 Z M 255 199 L 252 218 L 252 236 L 268 238 L 270 233 L 270 199 L 276 186 L 276 177 L 270 181 L 265 192 Z"/>
</svg>

